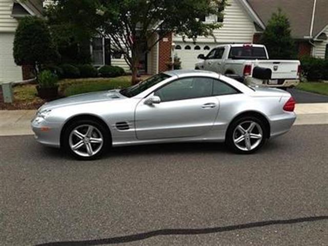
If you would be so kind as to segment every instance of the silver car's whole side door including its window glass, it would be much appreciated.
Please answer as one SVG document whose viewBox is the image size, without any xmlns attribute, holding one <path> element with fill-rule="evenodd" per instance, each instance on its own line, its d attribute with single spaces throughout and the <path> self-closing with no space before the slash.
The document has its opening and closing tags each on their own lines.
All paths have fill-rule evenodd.
<svg viewBox="0 0 328 246">
<path fill-rule="evenodd" d="M 135 110 L 138 139 L 161 139 L 200 136 L 214 124 L 219 101 L 212 96 L 213 79 L 179 78 L 156 90 L 159 104 L 145 104 L 142 99 Z"/>
</svg>

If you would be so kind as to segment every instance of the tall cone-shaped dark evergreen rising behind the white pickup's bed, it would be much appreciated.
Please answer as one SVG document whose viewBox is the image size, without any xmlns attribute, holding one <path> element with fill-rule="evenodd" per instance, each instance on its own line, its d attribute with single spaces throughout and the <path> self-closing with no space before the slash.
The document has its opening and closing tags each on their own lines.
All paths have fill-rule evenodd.
<svg viewBox="0 0 328 246">
<path fill-rule="evenodd" d="M 278 9 L 273 13 L 261 38 L 270 58 L 290 59 L 295 57 L 294 40 L 288 18 Z"/>
</svg>

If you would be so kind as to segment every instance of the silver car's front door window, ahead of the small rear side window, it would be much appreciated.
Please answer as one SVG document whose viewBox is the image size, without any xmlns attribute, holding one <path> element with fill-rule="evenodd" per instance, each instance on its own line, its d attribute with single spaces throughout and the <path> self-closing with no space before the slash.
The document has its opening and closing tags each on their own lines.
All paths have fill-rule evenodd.
<svg viewBox="0 0 328 246">
<path fill-rule="evenodd" d="M 161 101 L 184 100 L 212 95 L 213 79 L 207 77 L 188 77 L 174 80 L 155 91 Z"/>
</svg>

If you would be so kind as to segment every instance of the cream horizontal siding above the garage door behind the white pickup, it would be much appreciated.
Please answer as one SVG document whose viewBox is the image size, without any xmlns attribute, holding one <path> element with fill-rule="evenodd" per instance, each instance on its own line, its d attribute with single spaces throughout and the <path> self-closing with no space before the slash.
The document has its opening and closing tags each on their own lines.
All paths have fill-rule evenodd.
<svg viewBox="0 0 328 246">
<path fill-rule="evenodd" d="M 229 6 L 224 10 L 223 26 L 214 31 L 216 42 L 223 43 L 252 43 L 255 27 L 249 14 L 241 6 L 239 0 L 229 0 Z M 191 39 L 186 39 L 192 42 Z M 181 42 L 181 36 L 174 36 L 173 42 Z M 199 43 L 215 43 L 213 37 L 199 36 Z"/>
</svg>

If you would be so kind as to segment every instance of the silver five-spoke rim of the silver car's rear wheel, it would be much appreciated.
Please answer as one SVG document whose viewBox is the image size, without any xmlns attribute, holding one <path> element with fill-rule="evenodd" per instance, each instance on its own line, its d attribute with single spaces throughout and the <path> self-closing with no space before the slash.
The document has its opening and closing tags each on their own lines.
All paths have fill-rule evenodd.
<svg viewBox="0 0 328 246">
<path fill-rule="evenodd" d="M 235 146 L 243 151 L 254 150 L 260 144 L 262 138 L 262 128 L 252 120 L 241 122 L 233 133 Z"/>
</svg>

